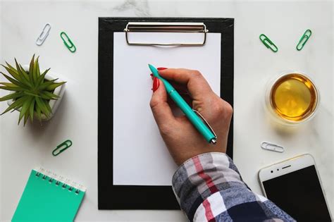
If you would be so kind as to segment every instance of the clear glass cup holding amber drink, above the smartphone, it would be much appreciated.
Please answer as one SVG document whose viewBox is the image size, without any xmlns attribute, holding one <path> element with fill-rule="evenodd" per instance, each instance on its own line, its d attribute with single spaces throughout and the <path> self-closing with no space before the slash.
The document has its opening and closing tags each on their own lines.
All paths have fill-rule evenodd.
<svg viewBox="0 0 334 222">
<path fill-rule="evenodd" d="M 299 71 L 280 73 L 266 85 L 264 104 L 274 121 L 299 125 L 314 117 L 320 96 L 314 81 Z"/>
</svg>

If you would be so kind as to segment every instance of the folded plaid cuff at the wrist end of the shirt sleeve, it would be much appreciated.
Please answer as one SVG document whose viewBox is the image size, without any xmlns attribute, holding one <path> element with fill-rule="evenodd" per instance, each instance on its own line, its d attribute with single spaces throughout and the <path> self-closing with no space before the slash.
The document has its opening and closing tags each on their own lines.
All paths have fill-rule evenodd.
<svg viewBox="0 0 334 222">
<path fill-rule="evenodd" d="M 215 192 L 231 186 L 246 187 L 232 159 L 222 152 L 188 159 L 174 173 L 172 184 L 181 209 L 190 220 L 198 206 Z"/>
</svg>

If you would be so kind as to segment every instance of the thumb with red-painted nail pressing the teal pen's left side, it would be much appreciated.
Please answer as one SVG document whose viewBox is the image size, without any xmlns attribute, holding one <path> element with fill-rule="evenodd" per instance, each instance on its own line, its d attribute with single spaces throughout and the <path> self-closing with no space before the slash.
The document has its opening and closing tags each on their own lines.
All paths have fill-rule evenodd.
<svg viewBox="0 0 334 222">
<path fill-rule="evenodd" d="M 154 78 L 152 90 L 153 94 L 149 105 L 151 106 L 156 124 L 158 124 L 161 130 L 162 125 L 166 125 L 166 123 L 169 125 L 173 123 L 173 121 L 176 121 L 176 119 L 173 116 L 171 107 L 167 103 L 167 92 L 163 82 L 158 78 Z"/>
</svg>

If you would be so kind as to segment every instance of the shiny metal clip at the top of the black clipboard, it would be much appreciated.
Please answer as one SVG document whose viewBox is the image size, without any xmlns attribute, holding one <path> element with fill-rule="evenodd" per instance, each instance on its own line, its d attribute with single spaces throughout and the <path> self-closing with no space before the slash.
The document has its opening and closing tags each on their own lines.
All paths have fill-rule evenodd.
<svg viewBox="0 0 334 222">
<path fill-rule="evenodd" d="M 154 23 L 154 22 L 130 22 L 125 28 L 125 39 L 128 45 L 132 46 L 203 46 L 206 42 L 206 29 L 204 23 Z M 187 33 L 203 33 L 203 41 L 201 42 L 172 42 L 172 43 L 157 43 L 157 42 L 130 42 L 130 32 L 187 32 Z"/>
</svg>

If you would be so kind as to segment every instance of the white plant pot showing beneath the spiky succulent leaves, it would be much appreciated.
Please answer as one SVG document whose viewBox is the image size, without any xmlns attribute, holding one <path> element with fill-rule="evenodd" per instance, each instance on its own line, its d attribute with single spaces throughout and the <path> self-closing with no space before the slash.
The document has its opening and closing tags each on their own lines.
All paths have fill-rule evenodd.
<svg viewBox="0 0 334 222">
<path fill-rule="evenodd" d="M 23 68 L 25 69 L 26 72 L 29 71 L 29 66 L 28 65 L 23 66 Z M 47 75 L 45 75 L 45 79 L 46 80 L 54 80 L 54 79 L 56 79 L 56 77 L 55 77 L 54 73 L 51 73 L 49 71 L 47 73 Z M 61 79 L 58 78 L 58 80 L 56 80 L 55 82 L 63 82 L 63 80 L 61 80 Z M 45 116 L 44 114 L 42 114 L 42 121 L 49 121 L 49 119 L 51 119 L 52 116 L 54 116 L 54 113 L 56 113 L 56 110 L 58 109 L 58 106 L 61 103 L 61 99 L 63 99 L 63 94 L 65 92 L 65 85 L 66 85 L 66 83 L 63 84 L 63 85 L 61 85 L 60 87 L 56 87 L 56 90 L 54 90 L 54 94 L 56 94 L 59 98 L 56 99 L 56 100 L 55 99 L 51 99 L 49 101 L 49 105 L 51 107 L 51 111 L 52 112 L 51 112 L 49 118 L 47 118 L 47 116 Z M 14 92 L 10 92 L 10 94 L 11 93 L 14 93 Z M 8 100 L 7 101 L 8 106 L 10 106 L 11 104 L 13 104 L 13 102 L 14 102 L 13 99 Z M 17 111 L 20 111 L 20 110 L 21 109 L 17 109 Z M 36 116 L 36 114 L 35 114 L 35 116 Z"/>
</svg>

